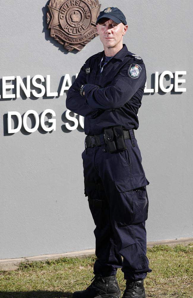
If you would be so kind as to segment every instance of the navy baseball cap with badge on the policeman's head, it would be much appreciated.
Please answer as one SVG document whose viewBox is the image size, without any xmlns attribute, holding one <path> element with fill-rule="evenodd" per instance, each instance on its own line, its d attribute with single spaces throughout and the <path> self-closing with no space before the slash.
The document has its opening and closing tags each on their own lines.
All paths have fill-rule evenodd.
<svg viewBox="0 0 193 298">
<path fill-rule="evenodd" d="M 103 11 L 100 12 L 96 25 L 101 18 L 109 18 L 116 22 L 117 24 L 123 23 L 124 25 L 127 24 L 126 18 L 122 11 L 117 7 L 107 7 Z"/>
</svg>

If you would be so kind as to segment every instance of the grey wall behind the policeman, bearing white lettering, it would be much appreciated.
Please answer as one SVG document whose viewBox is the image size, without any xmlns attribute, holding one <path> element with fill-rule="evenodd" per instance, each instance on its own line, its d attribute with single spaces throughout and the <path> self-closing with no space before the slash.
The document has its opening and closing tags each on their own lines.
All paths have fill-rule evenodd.
<svg viewBox="0 0 193 298">
<path fill-rule="evenodd" d="M 129 25 L 124 43 L 143 57 L 147 88 L 152 87 L 155 72 L 187 71 L 182 77 L 186 83 L 181 85 L 186 92 L 144 95 L 136 137 L 150 181 L 148 241 L 192 237 L 193 3 L 100 3 L 101 9 L 118 5 L 124 11 Z M 89 56 L 103 50 L 99 37 L 80 52 L 63 49 L 49 36 L 47 4 L 43 0 L 2 2 L 0 79 L 50 75 L 51 91 L 58 91 L 65 74 L 74 76 Z M 66 94 L 4 100 L 1 89 L 0 259 L 94 248 L 95 226 L 83 193 L 85 135 L 80 126 L 74 131 L 65 128 Z M 41 114 L 47 108 L 56 112 L 56 131 L 6 133 L 8 111 L 23 115 L 33 109 Z"/>
</svg>

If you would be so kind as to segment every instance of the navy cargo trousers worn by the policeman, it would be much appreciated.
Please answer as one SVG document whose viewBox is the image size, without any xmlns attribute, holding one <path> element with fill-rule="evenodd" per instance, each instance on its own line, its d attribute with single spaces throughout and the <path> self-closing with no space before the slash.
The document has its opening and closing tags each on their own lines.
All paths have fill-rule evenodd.
<svg viewBox="0 0 193 298">
<path fill-rule="evenodd" d="M 122 268 L 126 280 L 137 281 L 151 272 L 145 230 L 149 182 L 137 140 L 132 130 L 129 133 L 126 150 L 107 152 L 101 134 L 101 146 L 84 150 L 82 159 L 85 195 L 96 225 L 94 274 L 115 275 Z"/>
</svg>

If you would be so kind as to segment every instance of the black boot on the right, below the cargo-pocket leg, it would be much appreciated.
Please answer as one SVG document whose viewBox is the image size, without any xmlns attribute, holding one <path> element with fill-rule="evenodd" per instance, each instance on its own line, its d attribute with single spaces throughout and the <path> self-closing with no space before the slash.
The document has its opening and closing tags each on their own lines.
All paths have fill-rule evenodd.
<svg viewBox="0 0 193 298">
<path fill-rule="evenodd" d="M 146 298 L 143 280 L 126 281 L 126 289 L 123 293 L 123 298 Z"/>
</svg>

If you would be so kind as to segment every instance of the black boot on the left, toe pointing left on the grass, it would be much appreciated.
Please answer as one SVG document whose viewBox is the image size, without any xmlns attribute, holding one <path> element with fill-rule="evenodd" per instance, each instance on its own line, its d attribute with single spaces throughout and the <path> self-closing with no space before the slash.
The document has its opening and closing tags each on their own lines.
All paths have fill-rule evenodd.
<svg viewBox="0 0 193 298">
<path fill-rule="evenodd" d="M 92 279 L 92 283 L 84 291 L 76 291 L 73 298 L 118 298 L 121 291 L 117 283 L 116 275 L 102 277 L 96 274 Z"/>
</svg>

